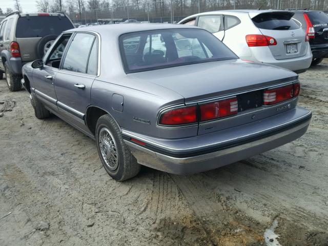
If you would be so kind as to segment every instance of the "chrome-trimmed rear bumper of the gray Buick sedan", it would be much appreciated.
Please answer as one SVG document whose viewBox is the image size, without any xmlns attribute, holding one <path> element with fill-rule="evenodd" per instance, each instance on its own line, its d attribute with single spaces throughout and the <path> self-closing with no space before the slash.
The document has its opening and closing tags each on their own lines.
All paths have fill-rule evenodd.
<svg viewBox="0 0 328 246">
<path fill-rule="evenodd" d="M 212 170 L 287 144 L 306 132 L 311 117 L 310 111 L 297 107 L 278 116 L 239 127 L 239 136 L 234 135 L 236 129 L 232 128 L 197 136 L 196 139 L 164 141 L 166 145 L 160 139 L 155 142 L 154 138 L 134 135 L 126 130 L 122 130 L 122 134 L 126 145 L 141 165 L 168 173 L 189 174 Z M 229 131 L 231 134 L 227 137 Z M 146 142 L 146 145 L 132 142 L 131 137 Z M 190 142 L 197 142 L 197 138 L 211 139 L 211 142 L 206 146 L 191 148 Z M 177 142 L 180 148 L 176 148 Z"/>
</svg>

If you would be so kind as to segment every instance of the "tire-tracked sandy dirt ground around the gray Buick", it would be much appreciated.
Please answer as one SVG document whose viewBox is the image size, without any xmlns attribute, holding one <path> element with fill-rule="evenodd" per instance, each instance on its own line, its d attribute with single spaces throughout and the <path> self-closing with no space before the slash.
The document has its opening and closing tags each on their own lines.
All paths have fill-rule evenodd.
<svg viewBox="0 0 328 246">
<path fill-rule="evenodd" d="M 0 80 L 0 101 L 15 102 L 0 117 L 0 245 L 328 245 L 328 59 L 300 81 L 313 112 L 300 139 L 205 173 L 142 168 L 117 182 L 92 139 L 36 119 L 28 93 Z"/>
</svg>

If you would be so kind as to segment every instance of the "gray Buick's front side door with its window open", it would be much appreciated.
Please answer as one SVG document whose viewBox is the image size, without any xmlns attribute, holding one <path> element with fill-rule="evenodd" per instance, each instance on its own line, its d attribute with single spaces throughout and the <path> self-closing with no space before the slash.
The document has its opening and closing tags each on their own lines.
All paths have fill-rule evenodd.
<svg viewBox="0 0 328 246">
<path fill-rule="evenodd" d="M 57 110 L 57 96 L 54 83 L 61 57 L 63 57 L 65 47 L 67 46 L 71 34 L 66 34 L 58 39 L 53 49 L 44 57 L 44 67 L 33 71 L 33 89 L 38 99 L 42 100 L 44 105 L 52 110 Z"/>
</svg>

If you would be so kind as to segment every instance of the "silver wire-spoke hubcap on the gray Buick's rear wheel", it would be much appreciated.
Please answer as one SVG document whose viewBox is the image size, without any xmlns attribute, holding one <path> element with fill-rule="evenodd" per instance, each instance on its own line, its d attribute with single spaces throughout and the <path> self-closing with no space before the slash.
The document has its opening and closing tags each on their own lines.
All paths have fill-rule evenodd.
<svg viewBox="0 0 328 246">
<path fill-rule="evenodd" d="M 98 145 L 101 157 L 106 166 L 115 171 L 118 166 L 117 145 L 112 133 L 107 128 L 102 128 L 99 132 Z"/>
</svg>

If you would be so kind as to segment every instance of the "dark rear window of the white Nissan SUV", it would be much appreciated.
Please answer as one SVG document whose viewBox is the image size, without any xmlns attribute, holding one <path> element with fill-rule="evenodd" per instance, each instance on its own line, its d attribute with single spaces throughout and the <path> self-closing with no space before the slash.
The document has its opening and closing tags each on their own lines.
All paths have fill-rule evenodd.
<svg viewBox="0 0 328 246">
<path fill-rule="evenodd" d="M 254 25 L 267 30 L 294 30 L 300 27 L 292 19 L 293 13 L 263 13 L 252 18 Z"/>
</svg>

